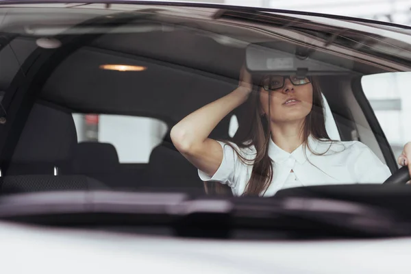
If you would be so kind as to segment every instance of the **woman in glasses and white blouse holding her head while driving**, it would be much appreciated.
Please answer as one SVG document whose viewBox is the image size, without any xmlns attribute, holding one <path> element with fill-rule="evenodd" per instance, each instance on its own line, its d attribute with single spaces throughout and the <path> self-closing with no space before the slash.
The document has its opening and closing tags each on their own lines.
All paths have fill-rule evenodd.
<svg viewBox="0 0 411 274">
<path fill-rule="evenodd" d="M 329 139 L 315 79 L 269 75 L 255 92 L 251 83 L 242 68 L 236 90 L 192 112 L 171 130 L 175 147 L 199 169 L 204 182 L 226 184 L 236 196 L 273 196 L 283 188 L 382 183 L 390 176 L 388 166 L 366 145 Z M 246 136 L 232 142 L 208 138 L 248 99 L 253 122 Z M 410 156 L 408 143 L 399 164 L 409 164 Z"/>
</svg>

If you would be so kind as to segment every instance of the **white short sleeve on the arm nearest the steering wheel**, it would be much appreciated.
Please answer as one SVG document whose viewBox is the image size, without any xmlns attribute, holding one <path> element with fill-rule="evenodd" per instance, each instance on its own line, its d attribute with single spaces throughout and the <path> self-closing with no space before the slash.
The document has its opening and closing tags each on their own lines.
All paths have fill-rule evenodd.
<svg viewBox="0 0 411 274">
<path fill-rule="evenodd" d="M 391 172 L 388 166 L 381 162 L 373 151 L 362 142 L 356 143 L 357 153 L 354 153 L 353 171 L 356 181 L 362 184 L 382 184 Z"/>
</svg>

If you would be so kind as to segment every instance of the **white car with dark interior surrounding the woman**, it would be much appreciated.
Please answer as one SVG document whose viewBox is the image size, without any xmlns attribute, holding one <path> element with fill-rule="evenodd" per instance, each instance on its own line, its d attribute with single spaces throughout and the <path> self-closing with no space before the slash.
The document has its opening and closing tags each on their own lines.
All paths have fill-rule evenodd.
<svg viewBox="0 0 411 274">
<path fill-rule="evenodd" d="M 214 197 L 169 132 L 236 88 L 248 45 L 285 41 L 338 66 L 318 75 L 333 134 L 394 174 L 402 144 L 387 136 L 408 119 L 382 115 L 411 101 L 392 96 L 410 76 L 411 27 L 151 1 L 0 1 L 0 15 L 8 273 L 407 272 L 408 186 Z M 232 138 L 248 120 L 246 104 L 210 136 Z"/>
</svg>

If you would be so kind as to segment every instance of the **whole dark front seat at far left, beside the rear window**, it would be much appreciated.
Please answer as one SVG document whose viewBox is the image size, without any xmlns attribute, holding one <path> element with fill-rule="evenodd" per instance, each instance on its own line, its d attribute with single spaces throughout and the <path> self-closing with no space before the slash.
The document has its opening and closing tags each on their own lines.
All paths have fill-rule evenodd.
<svg viewBox="0 0 411 274">
<path fill-rule="evenodd" d="M 77 134 L 71 113 L 34 104 L 18 140 L 0 191 L 106 189 L 96 179 L 67 175 Z"/>
</svg>

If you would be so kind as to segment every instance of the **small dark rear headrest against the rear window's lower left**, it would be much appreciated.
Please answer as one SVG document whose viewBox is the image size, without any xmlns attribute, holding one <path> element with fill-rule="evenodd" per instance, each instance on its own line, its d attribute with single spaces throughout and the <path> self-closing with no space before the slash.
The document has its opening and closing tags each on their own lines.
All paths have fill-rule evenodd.
<svg viewBox="0 0 411 274">
<path fill-rule="evenodd" d="M 75 174 L 109 173 L 119 168 L 116 148 L 105 142 L 80 142 L 75 147 Z"/>
</svg>

